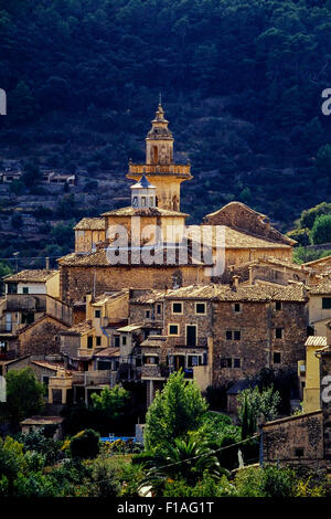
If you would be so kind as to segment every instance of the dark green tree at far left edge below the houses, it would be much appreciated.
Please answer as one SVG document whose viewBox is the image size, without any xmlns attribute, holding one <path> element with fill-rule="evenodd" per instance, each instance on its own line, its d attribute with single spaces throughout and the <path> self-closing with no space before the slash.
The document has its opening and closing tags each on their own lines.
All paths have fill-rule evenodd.
<svg viewBox="0 0 331 519">
<path fill-rule="evenodd" d="M 38 382 L 31 368 L 9 371 L 6 381 L 6 413 L 11 424 L 17 427 L 23 419 L 43 409 L 44 386 Z"/>
</svg>

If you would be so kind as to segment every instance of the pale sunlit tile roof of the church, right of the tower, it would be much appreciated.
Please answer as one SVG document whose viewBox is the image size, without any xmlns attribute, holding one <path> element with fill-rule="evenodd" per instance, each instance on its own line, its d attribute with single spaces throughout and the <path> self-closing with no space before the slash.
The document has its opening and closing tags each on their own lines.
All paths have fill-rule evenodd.
<svg viewBox="0 0 331 519">
<path fill-rule="evenodd" d="M 192 237 L 193 241 L 200 241 L 201 231 L 196 225 L 188 225 L 186 235 Z M 217 227 L 224 229 L 225 231 L 225 248 L 291 248 L 291 245 L 285 243 L 271 242 L 264 240 L 258 236 L 245 233 L 243 231 L 237 231 L 231 229 L 226 225 L 213 225 L 213 246 L 217 245 L 216 243 L 216 230 Z"/>
</svg>

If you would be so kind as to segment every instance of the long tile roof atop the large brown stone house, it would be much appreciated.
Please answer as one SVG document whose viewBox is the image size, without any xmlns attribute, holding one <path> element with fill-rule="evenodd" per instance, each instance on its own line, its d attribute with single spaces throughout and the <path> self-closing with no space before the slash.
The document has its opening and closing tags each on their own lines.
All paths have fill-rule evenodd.
<svg viewBox="0 0 331 519">
<path fill-rule="evenodd" d="M 236 290 L 228 285 L 191 285 L 168 290 L 166 299 L 211 299 L 215 301 L 307 301 L 302 284 L 282 285 L 239 285 Z"/>
</svg>

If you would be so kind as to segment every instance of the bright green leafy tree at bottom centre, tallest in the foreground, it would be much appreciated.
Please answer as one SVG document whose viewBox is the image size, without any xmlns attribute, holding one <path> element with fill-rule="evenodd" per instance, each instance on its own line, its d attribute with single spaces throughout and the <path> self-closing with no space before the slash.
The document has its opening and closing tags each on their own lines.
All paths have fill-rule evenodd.
<svg viewBox="0 0 331 519">
<path fill-rule="evenodd" d="M 206 401 L 195 382 L 185 381 L 182 371 L 172 373 L 147 412 L 147 448 L 173 444 L 177 437 L 196 430 L 202 425 L 206 410 Z"/>
</svg>

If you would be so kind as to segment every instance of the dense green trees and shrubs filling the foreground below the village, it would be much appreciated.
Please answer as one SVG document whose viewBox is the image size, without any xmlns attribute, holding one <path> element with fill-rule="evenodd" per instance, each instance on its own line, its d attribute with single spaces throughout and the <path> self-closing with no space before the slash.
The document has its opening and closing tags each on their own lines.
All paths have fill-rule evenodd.
<svg viewBox="0 0 331 519">
<path fill-rule="evenodd" d="M 257 393 L 244 399 L 250 411 L 274 415 L 270 391 Z M 117 386 L 104 390 L 95 403 L 109 420 L 125 409 L 127 398 Z M 174 434 L 166 438 L 171 426 Z M 324 478 L 307 467 L 258 467 L 255 431 L 243 439 L 244 428 L 244 420 L 239 427 L 207 411 L 197 388 L 174 373 L 148 413 L 145 449 L 122 439 L 100 442 L 92 428 L 65 441 L 53 439 L 50 428 L 0 438 L 0 497 L 137 497 L 147 490 L 163 497 L 328 495 Z"/>
</svg>

